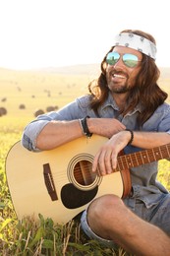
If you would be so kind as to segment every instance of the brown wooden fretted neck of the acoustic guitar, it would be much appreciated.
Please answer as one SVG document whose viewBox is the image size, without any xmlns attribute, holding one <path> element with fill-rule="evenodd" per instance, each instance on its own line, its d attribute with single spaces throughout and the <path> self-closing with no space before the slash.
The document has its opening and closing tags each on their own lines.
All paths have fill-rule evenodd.
<svg viewBox="0 0 170 256">
<path fill-rule="evenodd" d="M 117 168 L 121 171 L 126 168 L 136 167 L 152 161 L 168 158 L 170 158 L 170 144 L 120 156 L 118 157 Z"/>
</svg>

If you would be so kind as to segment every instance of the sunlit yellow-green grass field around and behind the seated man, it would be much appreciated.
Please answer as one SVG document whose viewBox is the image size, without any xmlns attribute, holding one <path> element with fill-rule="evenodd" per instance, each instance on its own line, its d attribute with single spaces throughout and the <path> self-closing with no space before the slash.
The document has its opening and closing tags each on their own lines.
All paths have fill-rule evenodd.
<svg viewBox="0 0 170 256">
<path fill-rule="evenodd" d="M 12 145 L 21 139 L 37 108 L 61 108 L 87 93 L 91 75 L 65 75 L 50 72 L 20 72 L 0 69 L 0 255 L 128 255 L 87 240 L 79 220 L 60 226 L 52 220 L 31 219 L 19 222 L 15 215 L 5 175 L 5 160 Z M 170 94 L 170 78 L 161 77 L 160 85 Z M 168 98 L 167 101 L 170 101 Z M 21 104 L 25 108 L 20 108 Z M 170 190 L 170 163 L 159 161 L 158 179 Z"/>
</svg>

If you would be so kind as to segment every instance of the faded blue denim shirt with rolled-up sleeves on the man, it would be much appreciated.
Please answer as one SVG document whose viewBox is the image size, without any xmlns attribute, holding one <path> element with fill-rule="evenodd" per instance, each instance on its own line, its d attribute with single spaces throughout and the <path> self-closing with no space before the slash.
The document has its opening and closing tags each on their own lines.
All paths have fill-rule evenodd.
<svg viewBox="0 0 170 256">
<path fill-rule="evenodd" d="M 136 131 L 139 130 L 137 117 L 140 111 L 141 106 L 139 104 L 132 112 L 125 116 L 118 115 L 119 108 L 110 94 L 107 100 L 98 109 L 98 116 L 96 116 L 95 112 L 89 107 L 89 96 L 81 96 L 58 111 L 39 115 L 37 119 L 30 122 L 24 131 L 22 144 L 29 151 L 38 152 L 38 149 L 36 149 L 36 138 L 48 122 L 51 120 L 74 120 L 83 118 L 86 115 L 93 118 L 117 118 L 127 129 Z M 142 125 L 141 130 L 147 132 L 167 132 L 170 134 L 170 105 L 167 103 L 160 105 Z M 141 150 L 142 149 L 137 147 L 128 146 L 124 149 L 124 152 L 125 154 L 130 154 Z M 130 171 L 133 186 L 132 197 L 140 199 L 145 204 L 146 208 L 157 204 L 161 193 L 168 193 L 168 191 L 156 181 L 157 161 L 133 167 Z"/>
</svg>

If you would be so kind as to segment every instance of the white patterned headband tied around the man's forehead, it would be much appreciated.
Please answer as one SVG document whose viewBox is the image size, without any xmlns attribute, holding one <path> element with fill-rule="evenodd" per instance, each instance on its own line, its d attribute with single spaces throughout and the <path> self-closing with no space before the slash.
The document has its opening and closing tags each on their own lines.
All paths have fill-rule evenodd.
<svg viewBox="0 0 170 256">
<path fill-rule="evenodd" d="M 116 45 L 133 48 L 141 51 L 143 54 L 151 57 L 154 60 L 156 59 L 156 45 L 141 35 L 137 35 L 132 32 L 119 33 L 115 37 L 115 41 L 113 43 L 113 46 Z"/>
</svg>

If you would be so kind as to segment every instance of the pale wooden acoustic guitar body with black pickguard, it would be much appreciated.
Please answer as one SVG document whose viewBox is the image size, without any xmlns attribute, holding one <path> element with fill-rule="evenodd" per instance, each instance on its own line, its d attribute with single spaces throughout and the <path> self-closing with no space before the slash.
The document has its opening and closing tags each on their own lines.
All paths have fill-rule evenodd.
<svg viewBox="0 0 170 256">
<path fill-rule="evenodd" d="M 93 135 L 77 139 L 55 150 L 28 152 L 21 142 L 10 150 L 6 175 L 19 219 L 38 214 L 66 224 L 105 194 L 123 196 L 122 172 L 100 177 L 91 173 L 91 162 L 106 138 Z"/>
</svg>

